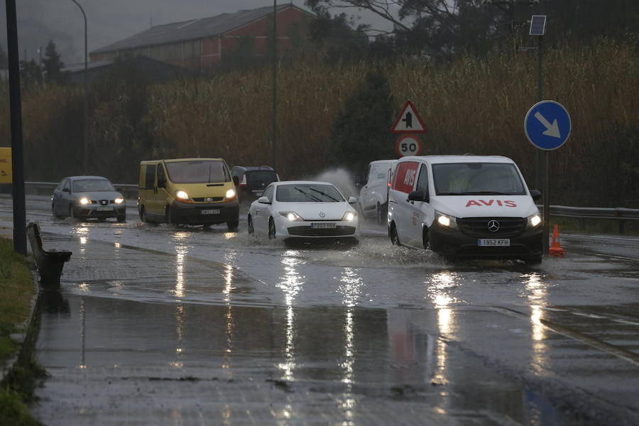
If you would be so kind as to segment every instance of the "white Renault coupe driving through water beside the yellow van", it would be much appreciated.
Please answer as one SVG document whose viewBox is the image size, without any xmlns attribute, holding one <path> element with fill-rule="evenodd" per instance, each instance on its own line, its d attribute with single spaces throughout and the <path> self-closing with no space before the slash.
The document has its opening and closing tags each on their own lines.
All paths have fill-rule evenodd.
<svg viewBox="0 0 639 426">
<path fill-rule="evenodd" d="M 269 239 L 359 238 L 359 218 L 342 192 L 328 182 L 273 182 L 251 203 L 249 234 Z"/>
</svg>

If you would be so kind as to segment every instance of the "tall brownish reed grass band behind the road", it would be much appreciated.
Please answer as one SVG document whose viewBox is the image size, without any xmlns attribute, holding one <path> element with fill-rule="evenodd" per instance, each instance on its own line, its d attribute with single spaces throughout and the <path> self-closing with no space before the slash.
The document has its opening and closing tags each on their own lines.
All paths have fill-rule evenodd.
<svg viewBox="0 0 639 426">
<path fill-rule="evenodd" d="M 507 155 L 520 165 L 529 185 L 534 183 L 536 148 L 523 133 L 524 116 L 537 102 L 534 53 L 495 50 L 483 58 L 461 55 L 447 65 L 414 58 L 395 63 L 327 65 L 309 57 L 281 65 L 278 171 L 283 178 L 309 175 L 331 166 L 324 160 L 331 126 L 366 72 L 376 68 L 388 77 L 395 99 L 415 102 L 428 129 L 421 136 L 425 154 Z M 229 165 L 270 164 L 271 78 L 271 67 L 266 65 L 212 78 L 154 85 L 148 89 L 146 115 L 138 121 L 127 118 L 126 107 L 112 102 L 105 107 L 97 99 L 92 135 L 97 141 L 103 141 L 109 131 L 120 135 L 109 139 L 113 149 L 101 153 L 113 155 L 106 159 L 111 162 L 118 160 L 116 155 L 129 153 L 129 157 L 141 157 L 128 158 L 131 163 L 148 158 L 212 156 L 226 158 Z M 573 124 L 567 143 L 551 153 L 551 202 L 639 207 L 636 40 L 601 38 L 589 45 L 547 49 L 542 87 L 544 99 L 554 99 L 567 107 Z M 0 94 L 6 94 L 6 88 L 2 90 Z M 25 141 L 31 147 L 29 160 L 38 165 L 38 170 L 29 170 L 28 174 L 34 179 L 45 173 L 40 168 L 42 162 L 35 160 L 38 150 L 33 147 L 53 143 L 51 129 L 67 132 L 58 135 L 62 140 L 81 135 L 82 124 L 77 120 L 80 95 L 79 89 L 69 88 L 26 94 Z M 73 121 L 68 116 L 63 119 L 62 129 L 56 126 L 56 120 L 65 109 L 73 111 L 70 116 L 78 115 Z M 6 116 L 0 134 L 8 136 L 4 104 L 0 116 Z M 148 132 L 116 131 L 123 126 L 145 126 Z M 131 134 L 150 140 L 131 141 Z M 129 150 L 129 146 L 138 148 Z M 55 150 L 42 152 L 57 158 Z M 366 156 L 365 142 L 362 153 Z M 58 175 L 69 174 L 55 161 L 49 160 L 48 165 Z M 136 170 L 118 173 L 111 179 L 135 181 Z"/>
</svg>

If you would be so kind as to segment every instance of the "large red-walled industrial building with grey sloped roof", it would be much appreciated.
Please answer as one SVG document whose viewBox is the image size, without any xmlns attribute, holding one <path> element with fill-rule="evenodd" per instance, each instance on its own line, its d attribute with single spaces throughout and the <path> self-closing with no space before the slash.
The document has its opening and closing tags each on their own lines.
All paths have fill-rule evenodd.
<svg viewBox="0 0 639 426">
<path fill-rule="evenodd" d="M 312 13 L 293 4 L 277 6 L 278 53 L 290 48 L 293 38 L 307 37 Z M 146 56 L 191 70 L 212 70 L 225 54 L 238 48 L 242 38 L 253 38 L 253 53 L 266 55 L 273 31 L 273 7 L 222 13 L 211 18 L 153 26 L 90 53 L 91 62 Z"/>
</svg>

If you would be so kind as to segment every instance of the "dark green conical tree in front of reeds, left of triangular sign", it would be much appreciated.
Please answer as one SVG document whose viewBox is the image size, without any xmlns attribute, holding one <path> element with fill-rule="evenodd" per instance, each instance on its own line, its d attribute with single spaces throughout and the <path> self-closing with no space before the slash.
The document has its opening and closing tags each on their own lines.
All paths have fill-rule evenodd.
<svg viewBox="0 0 639 426">
<path fill-rule="evenodd" d="M 327 161 L 360 173 L 371 160 L 395 157 L 391 134 L 394 113 L 395 102 L 386 75 L 368 72 L 334 121 Z"/>
</svg>

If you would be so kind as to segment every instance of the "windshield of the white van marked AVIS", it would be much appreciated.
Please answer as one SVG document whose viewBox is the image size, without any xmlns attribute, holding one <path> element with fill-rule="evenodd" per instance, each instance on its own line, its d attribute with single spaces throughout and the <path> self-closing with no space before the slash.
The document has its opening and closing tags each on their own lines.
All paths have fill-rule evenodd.
<svg viewBox="0 0 639 426">
<path fill-rule="evenodd" d="M 511 163 L 434 164 L 432 174 L 437 195 L 526 194 Z"/>
</svg>

